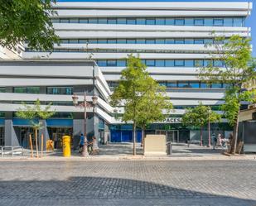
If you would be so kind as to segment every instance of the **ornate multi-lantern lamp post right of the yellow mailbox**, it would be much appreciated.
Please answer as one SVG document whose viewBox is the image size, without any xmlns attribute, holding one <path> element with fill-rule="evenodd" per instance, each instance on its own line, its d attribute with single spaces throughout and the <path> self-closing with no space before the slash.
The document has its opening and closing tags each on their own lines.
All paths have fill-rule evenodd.
<svg viewBox="0 0 256 206">
<path fill-rule="evenodd" d="M 90 108 L 90 107 L 94 107 L 94 105 L 96 105 L 97 101 L 98 101 L 98 97 L 97 96 L 93 96 L 92 97 L 92 103 L 87 103 L 86 101 L 86 92 L 84 92 L 84 102 L 83 103 L 79 103 L 79 97 L 77 95 L 73 95 L 72 96 L 73 99 L 73 104 L 75 105 L 75 107 L 80 107 L 80 108 L 84 108 L 84 118 L 85 118 L 85 144 L 82 147 L 82 156 L 89 156 L 88 150 L 87 150 L 87 132 L 86 132 L 86 108 Z"/>
</svg>

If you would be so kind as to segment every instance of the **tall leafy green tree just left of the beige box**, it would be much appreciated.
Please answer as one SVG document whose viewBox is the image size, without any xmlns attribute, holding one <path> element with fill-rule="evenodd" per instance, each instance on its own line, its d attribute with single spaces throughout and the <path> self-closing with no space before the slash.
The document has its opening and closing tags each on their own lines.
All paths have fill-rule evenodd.
<svg viewBox="0 0 256 206">
<path fill-rule="evenodd" d="M 133 122 L 133 155 L 136 155 L 136 128 L 152 122 L 154 119 L 162 119 L 161 107 L 165 108 L 166 102 L 160 103 L 157 98 L 165 100 L 164 94 L 157 94 L 159 87 L 155 80 L 146 71 L 146 65 L 138 57 L 128 55 L 128 66 L 123 69 L 118 87 L 111 95 L 111 104 L 114 107 L 124 107 L 123 122 Z M 152 116 L 146 113 L 147 103 L 155 109 Z M 156 104 L 153 104 L 156 103 Z M 150 108 L 150 111 L 153 109 Z M 142 116 L 144 115 L 144 116 Z M 143 122 L 143 123 L 142 123 Z"/>
</svg>

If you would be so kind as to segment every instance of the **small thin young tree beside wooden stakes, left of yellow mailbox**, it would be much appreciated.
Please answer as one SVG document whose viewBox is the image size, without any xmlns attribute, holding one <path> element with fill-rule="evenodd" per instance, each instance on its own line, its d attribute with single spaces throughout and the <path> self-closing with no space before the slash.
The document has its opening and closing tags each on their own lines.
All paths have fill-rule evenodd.
<svg viewBox="0 0 256 206">
<path fill-rule="evenodd" d="M 34 105 L 28 105 L 26 103 L 23 103 L 23 107 L 18 108 L 17 110 L 17 117 L 28 119 L 34 129 L 36 140 L 36 157 L 38 157 L 37 132 L 38 130 L 43 128 L 41 120 L 48 119 L 52 117 L 55 113 L 55 111 L 51 111 L 51 103 L 46 105 L 46 108 L 41 108 L 41 103 L 39 99 L 36 99 Z M 39 119 L 39 121 L 36 121 L 36 119 Z"/>
</svg>

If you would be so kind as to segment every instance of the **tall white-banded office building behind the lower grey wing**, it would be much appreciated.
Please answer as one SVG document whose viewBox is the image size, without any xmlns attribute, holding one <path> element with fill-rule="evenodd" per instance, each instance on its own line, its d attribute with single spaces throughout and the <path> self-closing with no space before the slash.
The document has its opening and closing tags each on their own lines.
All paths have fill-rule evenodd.
<svg viewBox="0 0 256 206">
<path fill-rule="evenodd" d="M 167 134 L 171 141 L 182 142 L 197 136 L 198 131 L 181 125 L 186 108 L 202 102 L 218 111 L 223 103 L 225 84 L 207 85 L 198 79 L 198 67 L 224 66 L 221 61 L 211 60 L 210 54 L 215 49 L 206 48 L 205 44 L 214 43 L 214 35 L 227 38 L 234 34 L 244 38 L 250 36 L 245 21 L 252 10 L 251 2 L 80 1 L 57 2 L 53 7 L 58 12 L 52 22 L 60 36 L 60 46 L 56 45 L 51 54 L 26 49 L 24 58 L 94 60 L 113 90 L 126 66 L 125 58 L 129 54 L 139 55 L 152 78 L 167 87 L 175 108 L 166 122 L 152 124 L 147 132 Z M 74 85 L 77 84 L 69 86 Z M 28 93 L 31 86 L 38 85 L 27 85 L 21 93 Z M 63 85 L 49 83 L 47 87 L 55 89 Z M 63 94 L 71 97 L 75 87 L 70 93 Z M 11 90 L 16 93 L 15 88 Z M 108 99 L 105 103 L 108 104 Z M 110 141 L 131 141 L 132 127 L 114 120 L 111 109 L 108 113 L 112 122 L 100 117 L 107 122 Z M 122 113 L 122 108 L 118 113 Z M 212 125 L 212 128 L 217 132 L 230 130 L 225 122 Z M 140 136 L 138 130 L 138 139 Z"/>
</svg>

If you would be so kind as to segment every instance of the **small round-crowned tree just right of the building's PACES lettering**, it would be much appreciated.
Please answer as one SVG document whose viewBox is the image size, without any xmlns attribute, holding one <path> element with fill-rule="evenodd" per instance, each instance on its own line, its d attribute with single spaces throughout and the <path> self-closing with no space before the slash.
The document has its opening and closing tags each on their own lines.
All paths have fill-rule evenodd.
<svg viewBox="0 0 256 206">
<path fill-rule="evenodd" d="M 215 113 L 210 107 L 200 103 L 196 108 L 187 108 L 182 117 L 182 123 L 186 126 L 200 127 L 200 146 L 203 145 L 203 127 L 207 122 L 220 122 L 220 114 Z"/>
</svg>

